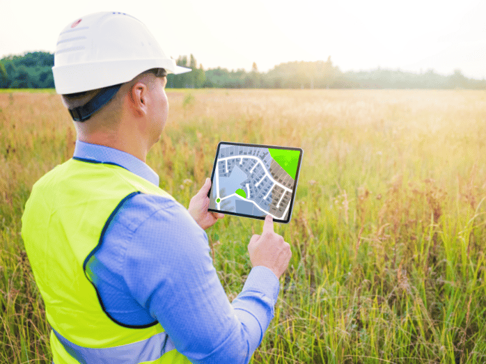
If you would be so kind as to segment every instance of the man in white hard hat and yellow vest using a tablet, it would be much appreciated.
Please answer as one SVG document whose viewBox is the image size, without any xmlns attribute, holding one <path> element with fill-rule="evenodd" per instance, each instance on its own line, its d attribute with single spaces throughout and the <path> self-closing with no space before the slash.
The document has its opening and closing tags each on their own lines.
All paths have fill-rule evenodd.
<svg viewBox="0 0 486 364">
<path fill-rule="evenodd" d="M 167 58 L 139 20 L 95 13 L 58 39 L 56 91 L 74 156 L 33 187 L 22 237 L 52 326 L 54 363 L 248 363 L 273 317 L 289 244 L 267 216 L 230 303 L 205 228 L 210 180 L 189 210 L 145 164 L 168 115 Z"/>
</svg>

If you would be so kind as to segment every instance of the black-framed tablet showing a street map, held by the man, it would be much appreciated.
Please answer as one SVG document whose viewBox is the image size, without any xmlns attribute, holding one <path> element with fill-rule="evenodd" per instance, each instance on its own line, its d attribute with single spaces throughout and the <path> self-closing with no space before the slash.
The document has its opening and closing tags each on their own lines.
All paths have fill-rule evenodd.
<svg viewBox="0 0 486 364">
<path fill-rule="evenodd" d="M 288 223 L 292 216 L 300 148 L 230 143 L 218 144 L 212 167 L 208 211 Z"/>
</svg>

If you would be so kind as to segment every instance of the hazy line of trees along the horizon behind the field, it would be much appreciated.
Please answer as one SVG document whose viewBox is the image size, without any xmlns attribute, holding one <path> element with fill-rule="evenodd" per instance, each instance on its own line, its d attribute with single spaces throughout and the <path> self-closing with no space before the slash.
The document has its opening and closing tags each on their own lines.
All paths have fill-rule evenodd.
<svg viewBox="0 0 486 364">
<path fill-rule="evenodd" d="M 226 68 L 203 69 L 194 55 L 179 56 L 178 65 L 192 69 L 184 74 L 168 74 L 168 88 L 434 88 L 486 89 L 486 80 L 469 79 L 460 70 L 444 76 L 434 70 L 420 74 L 377 68 L 370 71 L 342 72 L 327 61 L 294 61 L 259 72 Z M 28 52 L 0 60 L 0 88 L 54 88 L 54 54 Z"/>
</svg>

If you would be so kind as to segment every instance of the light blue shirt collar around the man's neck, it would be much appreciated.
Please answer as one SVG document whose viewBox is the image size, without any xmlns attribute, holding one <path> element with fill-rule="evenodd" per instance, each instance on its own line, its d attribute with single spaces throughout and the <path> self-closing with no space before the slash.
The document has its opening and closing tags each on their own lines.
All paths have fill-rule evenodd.
<svg viewBox="0 0 486 364">
<path fill-rule="evenodd" d="M 148 180 L 148 182 L 152 182 L 155 186 L 159 185 L 159 175 L 152 168 L 134 155 L 118 149 L 77 140 L 73 157 L 91 159 L 100 163 L 118 164 L 139 177 Z"/>
</svg>

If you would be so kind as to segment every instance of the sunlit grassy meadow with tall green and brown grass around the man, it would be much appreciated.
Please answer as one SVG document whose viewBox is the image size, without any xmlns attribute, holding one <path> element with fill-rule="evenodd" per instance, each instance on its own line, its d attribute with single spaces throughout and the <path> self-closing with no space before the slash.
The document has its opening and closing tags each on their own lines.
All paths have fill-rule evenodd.
<svg viewBox="0 0 486 364">
<path fill-rule="evenodd" d="M 304 149 L 292 246 L 253 363 L 486 362 L 486 92 L 168 90 L 148 155 L 183 205 L 219 141 Z M 20 237 L 39 177 L 72 156 L 53 93 L 0 93 L 0 363 L 47 363 L 42 300 Z M 277 224 L 276 224 L 277 225 Z M 262 223 L 207 230 L 230 299 Z"/>
</svg>

